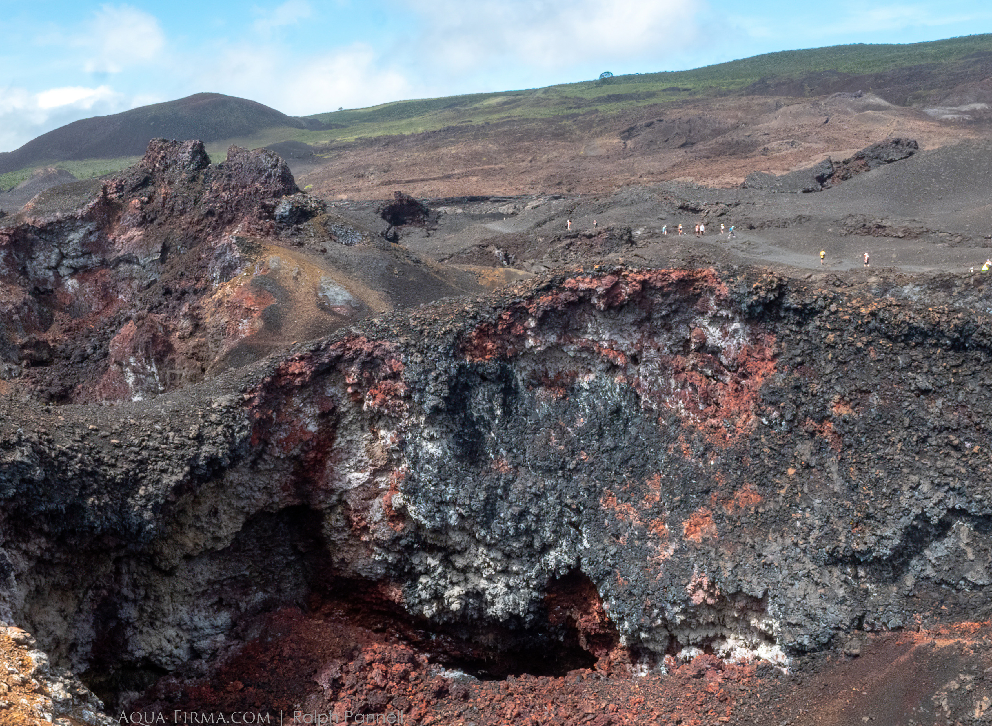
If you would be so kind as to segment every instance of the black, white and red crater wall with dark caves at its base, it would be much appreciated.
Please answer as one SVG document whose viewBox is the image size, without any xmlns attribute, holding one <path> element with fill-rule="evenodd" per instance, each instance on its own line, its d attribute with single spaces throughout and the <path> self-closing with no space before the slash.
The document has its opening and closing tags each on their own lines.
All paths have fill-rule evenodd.
<svg viewBox="0 0 992 726">
<path fill-rule="evenodd" d="M 237 667 L 254 706 L 358 698 L 379 677 L 345 666 L 365 642 L 386 655 L 362 663 L 411 683 L 521 672 L 528 648 L 610 677 L 705 674 L 973 618 L 987 307 L 980 277 L 590 268 L 153 401 L 8 402 L 3 615 L 150 708 L 234 702 L 217 693 Z M 285 614 L 273 633 L 364 627 L 343 592 L 402 638 L 251 675 L 279 643 L 266 613 Z M 438 703 L 469 677 L 444 672 Z M 377 687 L 363 707 L 402 706 Z"/>
</svg>

